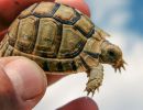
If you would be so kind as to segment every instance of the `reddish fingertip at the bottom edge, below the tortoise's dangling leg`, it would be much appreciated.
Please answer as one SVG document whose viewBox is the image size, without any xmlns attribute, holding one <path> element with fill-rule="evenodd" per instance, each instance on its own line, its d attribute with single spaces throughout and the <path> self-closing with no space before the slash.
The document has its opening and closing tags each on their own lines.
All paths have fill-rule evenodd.
<svg viewBox="0 0 143 110">
<path fill-rule="evenodd" d="M 99 110 L 97 103 L 88 98 L 82 97 L 70 101 L 69 103 L 58 108 L 57 110 Z"/>
</svg>

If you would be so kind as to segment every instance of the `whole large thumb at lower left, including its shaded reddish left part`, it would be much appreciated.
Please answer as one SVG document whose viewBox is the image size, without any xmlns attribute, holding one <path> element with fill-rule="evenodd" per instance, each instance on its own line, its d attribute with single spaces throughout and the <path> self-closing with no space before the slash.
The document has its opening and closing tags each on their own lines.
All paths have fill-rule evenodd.
<svg viewBox="0 0 143 110">
<path fill-rule="evenodd" d="M 31 110 L 43 97 L 45 73 L 19 56 L 0 58 L 0 110 Z"/>
</svg>

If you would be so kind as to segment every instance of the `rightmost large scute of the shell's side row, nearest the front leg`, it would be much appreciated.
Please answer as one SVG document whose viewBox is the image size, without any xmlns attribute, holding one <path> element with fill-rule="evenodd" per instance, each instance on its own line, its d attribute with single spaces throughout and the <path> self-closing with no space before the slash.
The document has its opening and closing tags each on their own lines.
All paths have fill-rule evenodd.
<svg viewBox="0 0 143 110">
<path fill-rule="evenodd" d="M 74 30 L 73 26 L 64 25 L 58 57 L 70 58 L 77 56 L 84 48 L 86 41 L 82 34 Z"/>
</svg>

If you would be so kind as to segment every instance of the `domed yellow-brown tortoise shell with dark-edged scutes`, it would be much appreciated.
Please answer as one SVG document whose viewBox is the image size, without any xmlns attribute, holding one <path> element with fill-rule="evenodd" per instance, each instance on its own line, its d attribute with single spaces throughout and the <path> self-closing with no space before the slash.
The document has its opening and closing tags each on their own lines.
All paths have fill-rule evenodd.
<svg viewBox="0 0 143 110">
<path fill-rule="evenodd" d="M 94 23 L 80 11 L 59 3 L 35 3 L 9 28 L 0 56 L 29 57 L 46 72 L 84 70 L 80 53 L 94 34 Z"/>
</svg>

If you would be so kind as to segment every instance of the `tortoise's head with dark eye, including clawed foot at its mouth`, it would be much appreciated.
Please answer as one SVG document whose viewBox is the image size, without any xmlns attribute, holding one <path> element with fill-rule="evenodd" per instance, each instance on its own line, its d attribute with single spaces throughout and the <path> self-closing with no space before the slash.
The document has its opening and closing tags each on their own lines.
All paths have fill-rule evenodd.
<svg viewBox="0 0 143 110">
<path fill-rule="evenodd" d="M 114 70 L 119 69 L 121 73 L 121 67 L 124 68 L 125 62 L 122 58 L 122 51 L 119 46 L 109 43 L 108 41 L 101 44 L 101 54 L 99 59 L 103 64 L 110 64 Z"/>
</svg>

